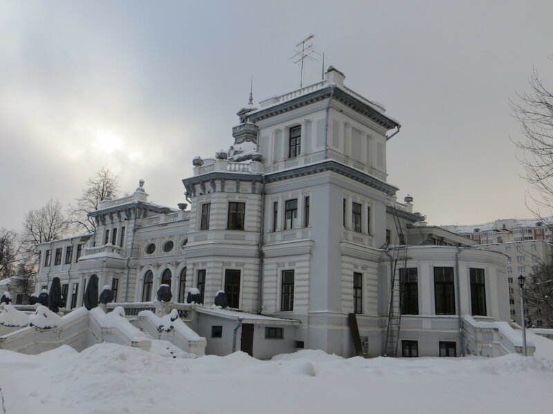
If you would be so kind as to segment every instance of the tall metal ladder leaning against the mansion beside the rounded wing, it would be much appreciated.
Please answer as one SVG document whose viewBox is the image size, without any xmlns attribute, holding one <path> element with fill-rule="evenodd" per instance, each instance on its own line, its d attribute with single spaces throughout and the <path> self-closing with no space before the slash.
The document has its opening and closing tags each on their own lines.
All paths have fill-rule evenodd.
<svg viewBox="0 0 553 414">
<path fill-rule="evenodd" d="M 397 210 L 394 210 L 397 212 Z M 397 356 L 397 344 L 400 339 L 400 328 L 402 320 L 402 290 L 403 285 L 400 279 L 400 268 L 407 267 L 407 244 L 406 233 L 404 233 L 400 217 L 397 213 L 393 214 L 395 228 L 400 242 L 404 242 L 404 246 L 399 246 L 393 249 L 393 264 L 391 264 L 390 275 L 390 295 L 388 298 L 388 323 L 386 324 L 386 349 L 384 355 L 387 357 Z M 400 263 L 400 268 L 397 264 Z M 404 270 L 405 272 L 406 270 Z"/>
</svg>

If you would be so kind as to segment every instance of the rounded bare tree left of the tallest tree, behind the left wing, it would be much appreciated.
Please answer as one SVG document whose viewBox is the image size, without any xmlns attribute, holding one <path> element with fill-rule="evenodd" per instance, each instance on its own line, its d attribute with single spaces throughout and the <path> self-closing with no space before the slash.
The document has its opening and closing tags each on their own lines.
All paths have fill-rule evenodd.
<svg viewBox="0 0 553 414">
<path fill-rule="evenodd" d="M 62 204 L 50 199 L 44 207 L 29 210 L 23 222 L 22 243 L 24 257 L 38 263 L 38 244 L 62 239 L 67 232 L 67 221 L 62 213 Z"/>
</svg>

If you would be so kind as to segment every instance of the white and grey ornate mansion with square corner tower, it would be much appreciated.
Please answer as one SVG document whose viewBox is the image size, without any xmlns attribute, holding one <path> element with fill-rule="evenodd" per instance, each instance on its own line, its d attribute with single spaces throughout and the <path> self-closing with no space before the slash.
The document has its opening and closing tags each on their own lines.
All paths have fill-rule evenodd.
<svg viewBox="0 0 553 414">
<path fill-rule="evenodd" d="M 130 310 L 155 306 L 168 284 L 216 355 L 503 352 L 475 338 L 480 322 L 509 320 L 507 256 L 425 226 L 411 197 L 397 201 L 386 144 L 400 124 L 344 78 L 331 67 L 260 108 L 250 95 L 234 144 L 196 157 L 182 180 L 188 210 L 152 204 L 143 181 L 102 201 L 94 234 L 39 246 L 36 292 L 57 276 L 76 308 L 95 274 Z M 179 305 L 196 288 L 203 306 Z M 220 290 L 229 308 L 214 306 Z"/>
</svg>

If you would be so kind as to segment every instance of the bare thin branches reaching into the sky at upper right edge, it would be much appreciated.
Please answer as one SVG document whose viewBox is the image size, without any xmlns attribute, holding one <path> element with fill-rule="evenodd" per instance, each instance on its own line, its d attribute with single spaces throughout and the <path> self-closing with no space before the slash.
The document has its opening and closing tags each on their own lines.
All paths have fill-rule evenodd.
<svg viewBox="0 0 553 414">
<path fill-rule="evenodd" d="M 531 210 L 541 217 L 540 207 L 553 208 L 553 89 L 545 86 L 536 68 L 528 81 L 529 90 L 511 101 L 524 136 L 514 144 L 523 152 L 519 161 L 525 168 L 525 179 L 538 194 L 529 195 L 538 206 Z"/>
</svg>

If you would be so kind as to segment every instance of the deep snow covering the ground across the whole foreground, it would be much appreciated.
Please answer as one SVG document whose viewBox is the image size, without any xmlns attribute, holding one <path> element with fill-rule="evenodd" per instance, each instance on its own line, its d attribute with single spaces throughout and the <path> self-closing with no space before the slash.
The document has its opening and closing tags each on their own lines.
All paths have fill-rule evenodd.
<svg viewBox="0 0 553 414">
<path fill-rule="evenodd" d="M 532 334 L 533 335 L 533 334 Z M 552 341 L 538 349 L 549 348 Z M 551 344 L 550 344 L 551 343 Z M 0 413 L 550 413 L 553 360 L 167 358 L 100 344 L 0 351 Z M 3 404 L 3 406 L 2 406 Z"/>
</svg>

